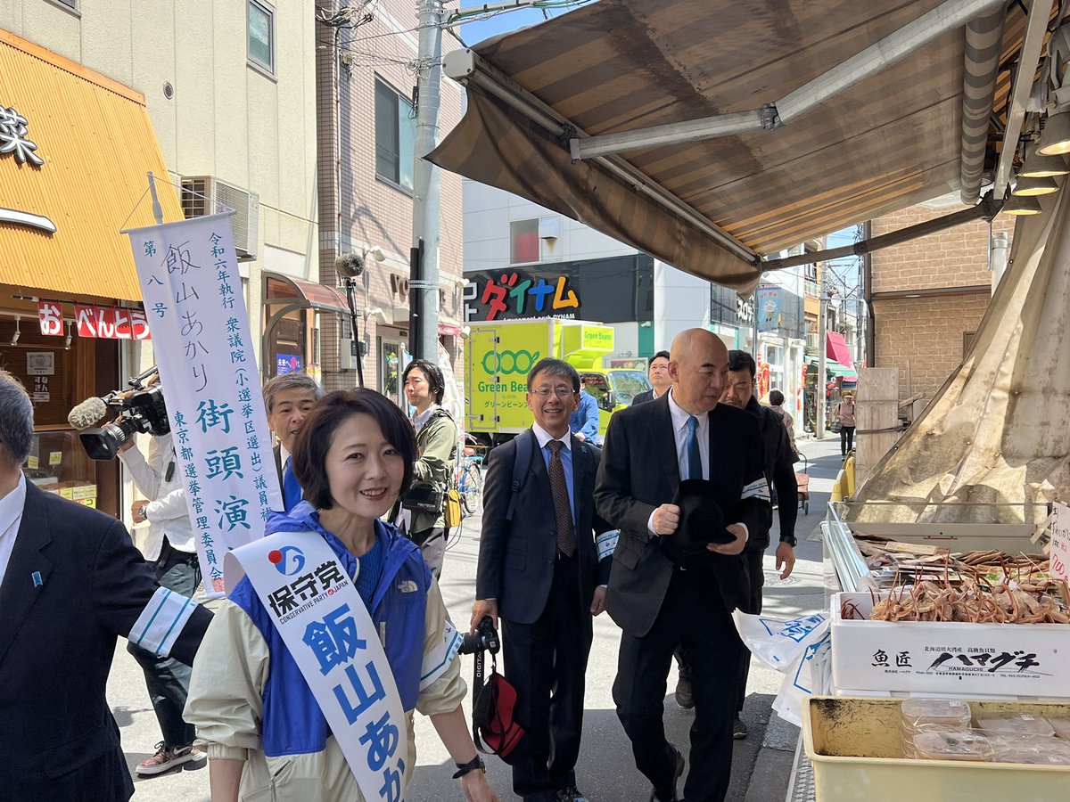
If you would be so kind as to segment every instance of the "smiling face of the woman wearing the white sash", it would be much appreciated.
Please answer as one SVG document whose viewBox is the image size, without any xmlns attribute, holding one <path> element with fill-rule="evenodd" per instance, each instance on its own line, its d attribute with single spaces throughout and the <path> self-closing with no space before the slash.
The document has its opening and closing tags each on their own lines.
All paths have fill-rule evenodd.
<svg viewBox="0 0 1070 802">
<path fill-rule="evenodd" d="M 404 479 L 404 459 L 370 415 L 356 414 L 335 429 L 327 450 L 327 484 L 334 506 L 377 519 L 394 506 Z"/>
</svg>

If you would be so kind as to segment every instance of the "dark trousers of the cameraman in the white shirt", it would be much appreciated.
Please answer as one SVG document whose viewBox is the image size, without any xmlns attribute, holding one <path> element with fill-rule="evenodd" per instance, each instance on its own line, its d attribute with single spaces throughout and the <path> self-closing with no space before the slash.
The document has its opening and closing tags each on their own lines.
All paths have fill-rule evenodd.
<svg viewBox="0 0 1070 802">
<path fill-rule="evenodd" d="M 166 538 L 159 559 L 152 564 L 152 569 L 163 587 L 183 596 L 193 596 L 200 584 L 197 555 L 171 547 Z M 193 743 L 197 731 L 193 724 L 186 724 L 182 719 L 189 692 L 189 666 L 173 658 L 157 657 L 132 643 L 126 644 L 126 651 L 134 656 L 144 672 L 144 682 L 159 721 L 164 745 L 185 746 Z"/>
</svg>

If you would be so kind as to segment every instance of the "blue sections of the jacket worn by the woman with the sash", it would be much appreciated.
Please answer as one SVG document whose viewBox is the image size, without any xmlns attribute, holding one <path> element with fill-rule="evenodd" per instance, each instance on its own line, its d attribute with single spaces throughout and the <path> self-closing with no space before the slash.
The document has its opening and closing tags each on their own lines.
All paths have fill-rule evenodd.
<svg viewBox="0 0 1070 802">
<path fill-rule="evenodd" d="M 322 536 L 353 579 L 357 568 L 356 557 L 320 525 L 319 513 L 307 502 L 294 507 L 289 515 L 272 513 L 265 534 L 308 530 Z M 431 572 L 419 550 L 391 524 L 377 521 L 376 537 L 383 543 L 385 555 L 383 573 L 371 599 L 371 619 L 376 630 L 385 637 L 383 647 L 394 670 L 401 706 L 412 710 L 419 695 L 423 633 Z M 406 585 L 407 582 L 415 583 L 416 592 L 411 590 L 412 585 Z M 402 585 L 408 592 L 402 592 Z M 263 693 L 261 742 L 264 754 L 278 757 L 322 751 L 331 734 L 327 721 L 247 576 L 231 591 L 230 600 L 249 616 L 271 653 Z M 413 633 L 418 634 L 413 637 Z"/>
</svg>

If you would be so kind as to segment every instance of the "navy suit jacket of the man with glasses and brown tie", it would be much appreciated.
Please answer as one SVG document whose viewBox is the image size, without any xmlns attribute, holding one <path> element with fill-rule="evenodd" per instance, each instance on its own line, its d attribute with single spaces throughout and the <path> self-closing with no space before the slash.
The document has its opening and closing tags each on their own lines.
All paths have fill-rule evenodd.
<svg viewBox="0 0 1070 802">
<path fill-rule="evenodd" d="M 498 599 L 498 612 L 518 623 L 534 623 L 546 608 L 557 557 L 556 523 L 550 475 L 532 437 L 532 461 L 517 497 L 511 524 L 506 521 L 513 495 L 516 439 L 490 452 L 483 489 L 483 535 L 476 573 L 476 599 Z M 572 452 L 572 497 L 576 505 L 576 551 L 580 560 L 580 592 L 591 606 L 599 574 L 595 533 L 609 526 L 595 514 L 594 490 L 601 452 L 592 443 L 569 435 Z M 608 573 L 609 558 L 602 569 Z"/>
</svg>

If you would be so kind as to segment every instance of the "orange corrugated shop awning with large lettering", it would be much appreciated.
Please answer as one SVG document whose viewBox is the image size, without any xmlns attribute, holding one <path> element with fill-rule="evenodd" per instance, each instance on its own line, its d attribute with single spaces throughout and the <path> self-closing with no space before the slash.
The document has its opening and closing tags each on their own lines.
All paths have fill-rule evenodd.
<svg viewBox="0 0 1070 802">
<path fill-rule="evenodd" d="M 0 30 L 0 283 L 140 300 L 119 232 L 154 222 L 147 173 L 183 216 L 144 97 Z"/>
</svg>

